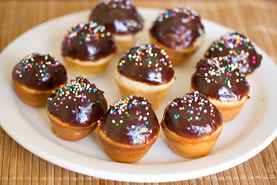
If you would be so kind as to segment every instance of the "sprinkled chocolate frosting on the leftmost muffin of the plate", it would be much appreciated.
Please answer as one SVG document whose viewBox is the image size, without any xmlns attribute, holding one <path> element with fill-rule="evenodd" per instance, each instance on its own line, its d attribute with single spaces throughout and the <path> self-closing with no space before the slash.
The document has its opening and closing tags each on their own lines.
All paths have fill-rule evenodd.
<svg viewBox="0 0 277 185">
<path fill-rule="evenodd" d="M 51 55 L 33 53 L 23 58 L 13 69 L 12 79 L 30 89 L 51 90 L 67 80 L 66 70 Z"/>
</svg>

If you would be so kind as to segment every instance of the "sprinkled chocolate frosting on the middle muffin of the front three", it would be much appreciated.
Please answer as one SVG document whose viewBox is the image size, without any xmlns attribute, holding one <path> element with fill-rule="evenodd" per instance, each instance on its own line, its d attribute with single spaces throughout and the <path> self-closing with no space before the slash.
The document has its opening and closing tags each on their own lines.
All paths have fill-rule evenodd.
<svg viewBox="0 0 277 185">
<path fill-rule="evenodd" d="M 160 130 L 151 104 L 138 96 L 121 98 L 110 106 L 99 127 L 113 141 L 131 145 L 148 143 Z"/>
</svg>

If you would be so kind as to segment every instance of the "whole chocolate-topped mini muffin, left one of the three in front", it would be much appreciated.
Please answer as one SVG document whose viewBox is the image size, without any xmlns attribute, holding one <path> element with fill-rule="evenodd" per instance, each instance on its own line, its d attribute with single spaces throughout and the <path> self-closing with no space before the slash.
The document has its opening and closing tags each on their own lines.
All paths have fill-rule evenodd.
<svg viewBox="0 0 277 185">
<path fill-rule="evenodd" d="M 91 134 L 107 110 L 104 92 L 78 76 L 53 91 L 46 112 L 56 136 L 78 141 Z"/>
</svg>

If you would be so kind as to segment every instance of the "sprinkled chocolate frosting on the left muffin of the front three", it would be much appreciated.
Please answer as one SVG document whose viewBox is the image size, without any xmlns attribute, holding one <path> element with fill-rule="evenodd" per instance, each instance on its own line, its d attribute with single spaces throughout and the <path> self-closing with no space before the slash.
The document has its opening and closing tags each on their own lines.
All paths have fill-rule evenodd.
<svg viewBox="0 0 277 185">
<path fill-rule="evenodd" d="M 87 126 L 98 121 L 107 110 L 104 92 L 82 76 L 71 79 L 47 100 L 47 110 L 62 122 Z"/>
</svg>

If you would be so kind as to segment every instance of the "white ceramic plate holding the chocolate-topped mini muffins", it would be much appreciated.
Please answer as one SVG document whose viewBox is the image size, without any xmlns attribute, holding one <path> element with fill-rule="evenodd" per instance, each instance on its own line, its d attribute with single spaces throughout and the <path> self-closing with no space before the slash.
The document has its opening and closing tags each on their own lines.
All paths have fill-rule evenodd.
<svg viewBox="0 0 277 185">
<path fill-rule="evenodd" d="M 145 19 L 145 30 L 136 45 L 150 44 L 148 28 L 162 10 L 139 8 L 139 11 Z M 236 166 L 258 154 L 275 139 L 277 67 L 258 46 L 256 50 L 263 59 L 250 80 L 251 99 L 233 121 L 224 124 L 215 147 L 205 157 L 186 159 L 175 155 L 163 132 L 148 154 L 134 164 L 120 164 L 109 159 L 100 146 L 97 132 L 77 142 L 57 138 L 51 132 L 45 108 L 30 107 L 17 98 L 11 71 L 21 58 L 33 52 L 50 53 L 62 62 L 60 46 L 67 28 L 79 21 L 87 21 L 88 15 L 89 11 L 76 12 L 40 24 L 15 39 L 0 55 L 1 127 L 30 152 L 63 168 L 93 177 L 127 182 L 172 182 L 211 175 Z M 204 44 L 190 62 L 175 68 L 177 79 L 163 105 L 155 110 L 159 121 L 168 102 L 189 91 L 195 64 L 211 42 L 229 31 L 208 20 L 203 20 L 203 23 L 206 31 Z M 108 105 L 121 98 L 113 77 L 119 58 L 117 56 L 111 62 L 104 76 L 90 80 L 105 91 Z"/>
</svg>

